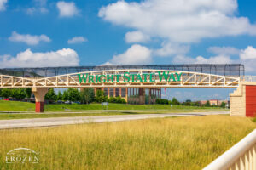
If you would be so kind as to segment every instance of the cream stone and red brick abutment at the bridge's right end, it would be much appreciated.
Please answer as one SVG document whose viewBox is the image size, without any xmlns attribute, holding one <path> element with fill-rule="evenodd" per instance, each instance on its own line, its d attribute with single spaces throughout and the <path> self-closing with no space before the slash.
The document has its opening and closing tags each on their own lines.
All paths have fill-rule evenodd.
<svg viewBox="0 0 256 170">
<path fill-rule="evenodd" d="M 240 82 L 230 94 L 230 116 L 256 116 L 256 82 Z"/>
</svg>

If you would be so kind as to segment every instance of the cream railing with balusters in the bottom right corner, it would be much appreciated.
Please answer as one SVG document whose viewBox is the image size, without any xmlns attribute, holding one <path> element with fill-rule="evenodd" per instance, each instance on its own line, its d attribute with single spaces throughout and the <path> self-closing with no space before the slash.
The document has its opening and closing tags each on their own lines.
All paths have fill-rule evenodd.
<svg viewBox="0 0 256 170">
<path fill-rule="evenodd" d="M 256 129 L 203 170 L 256 169 Z"/>
</svg>

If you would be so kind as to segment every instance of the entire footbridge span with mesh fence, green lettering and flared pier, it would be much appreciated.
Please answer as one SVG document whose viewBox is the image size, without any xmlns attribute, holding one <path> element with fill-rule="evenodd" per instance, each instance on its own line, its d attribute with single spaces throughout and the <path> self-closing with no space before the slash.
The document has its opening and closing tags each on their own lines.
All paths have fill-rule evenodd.
<svg viewBox="0 0 256 170">
<path fill-rule="evenodd" d="M 32 88 L 36 112 L 43 112 L 49 88 L 238 88 L 243 76 L 240 64 L 6 68 L 0 88 Z"/>
</svg>

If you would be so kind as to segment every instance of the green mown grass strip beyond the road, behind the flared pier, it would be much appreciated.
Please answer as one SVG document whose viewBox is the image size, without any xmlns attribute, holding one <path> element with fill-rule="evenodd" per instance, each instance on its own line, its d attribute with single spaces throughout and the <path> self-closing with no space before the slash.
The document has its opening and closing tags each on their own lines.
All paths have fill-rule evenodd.
<svg viewBox="0 0 256 170">
<path fill-rule="evenodd" d="M 44 113 L 34 112 L 35 104 L 17 101 L 0 101 L 0 120 L 22 118 L 45 118 L 64 116 L 109 116 L 127 114 L 178 113 L 201 111 L 228 111 L 221 108 L 207 108 L 183 105 L 123 105 L 109 104 L 108 111 L 101 104 L 90 105 L 45 105 Z M 1 111 L 3 111 L 1 113 Z M 15 113 L 15 111 L 25 111 Z M 9 113 L 7 113 L 9 112 Z"/>
</svg>

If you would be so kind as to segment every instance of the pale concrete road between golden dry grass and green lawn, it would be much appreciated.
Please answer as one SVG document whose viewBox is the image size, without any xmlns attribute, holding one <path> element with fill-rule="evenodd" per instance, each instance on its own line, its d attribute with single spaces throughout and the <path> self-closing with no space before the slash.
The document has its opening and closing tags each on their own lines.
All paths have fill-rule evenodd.
<svg viewBox="0 0 256 170">
<path fill-rule="evenodd" d="M 228 111 L 219 112 L 191 112 L 191 113 L 165 113 L 165 114 L 137 114 L 117 116 L 75 116 L 75 117 L 51 117 L 33 119 L 0 120 L 0 129 L 24 128 L 24 127 L 50 127 L 67 124 L 79 124 L 88 122 L 119 122 L 139 119 L 172 117 L 172 116 L 206 116 L 229 114 Z"/>
</svg>

